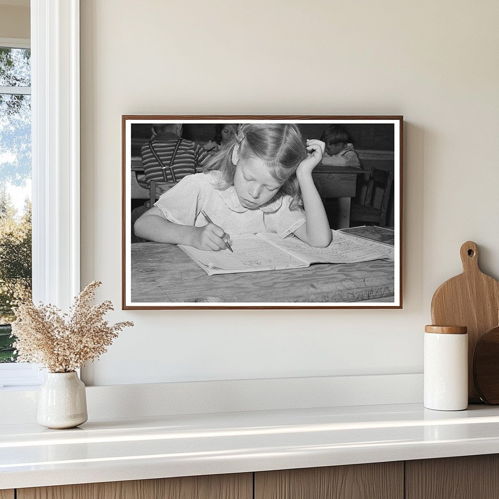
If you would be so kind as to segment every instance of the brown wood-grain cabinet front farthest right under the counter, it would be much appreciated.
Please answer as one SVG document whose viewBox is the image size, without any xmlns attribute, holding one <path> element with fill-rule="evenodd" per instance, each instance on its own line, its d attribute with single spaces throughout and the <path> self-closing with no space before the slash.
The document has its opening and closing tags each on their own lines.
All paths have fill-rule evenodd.
<svg viewBox="0 0 499 499">
<path fill-rule="evenodd" d="M 499 455 L 406 461 L 406 499 L 499 498 Z"/>
</svg>

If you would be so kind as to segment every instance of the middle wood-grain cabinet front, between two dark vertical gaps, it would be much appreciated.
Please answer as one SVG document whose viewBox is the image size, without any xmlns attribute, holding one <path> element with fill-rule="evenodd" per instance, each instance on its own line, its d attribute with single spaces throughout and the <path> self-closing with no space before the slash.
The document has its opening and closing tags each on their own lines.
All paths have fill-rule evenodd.
<svg viewBox="0 0 499 499">
<path fill-rule="evenodd" d="M 402 499 L 403 481 L 403 462 L 260 472 L 254 499 Z"/>
</svg>

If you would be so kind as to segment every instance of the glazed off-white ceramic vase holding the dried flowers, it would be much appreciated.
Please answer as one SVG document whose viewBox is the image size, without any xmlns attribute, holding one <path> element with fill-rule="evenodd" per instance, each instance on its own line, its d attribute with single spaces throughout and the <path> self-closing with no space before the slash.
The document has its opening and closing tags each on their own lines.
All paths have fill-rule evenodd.
<svg viewBox="0 0 499 499">
<path fill-rule="evenodd" d="M 37 423 L 58 430 L 81 425 L 87 419 L 85 385 L 76 372 L 47 373 L 38 394 Z"/>
</svg>

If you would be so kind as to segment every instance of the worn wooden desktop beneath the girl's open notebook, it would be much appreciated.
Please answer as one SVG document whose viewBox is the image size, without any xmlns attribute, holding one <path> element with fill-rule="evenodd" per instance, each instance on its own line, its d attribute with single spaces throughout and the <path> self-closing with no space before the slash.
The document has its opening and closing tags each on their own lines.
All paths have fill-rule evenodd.
<svg viewBox="0 0 499 499">
<path fill-rule="evenodd" d="M 133 302 L 393 301 L 393 261 L 210 276 L 175 245 L 136 243 L 131 253 Z"/>
</svg>

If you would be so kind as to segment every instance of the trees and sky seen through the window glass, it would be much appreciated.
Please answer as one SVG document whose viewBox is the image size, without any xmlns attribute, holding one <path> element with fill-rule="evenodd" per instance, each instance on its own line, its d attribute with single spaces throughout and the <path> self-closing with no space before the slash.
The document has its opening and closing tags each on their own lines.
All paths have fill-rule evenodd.
<svg viewBox="0 0 499 499">
<path fill-rule="evenodd" d="M 30 50 L 0 47 L 0 363 L 15 360 L 13 300 L 31 294 Z"/>
</svg>

